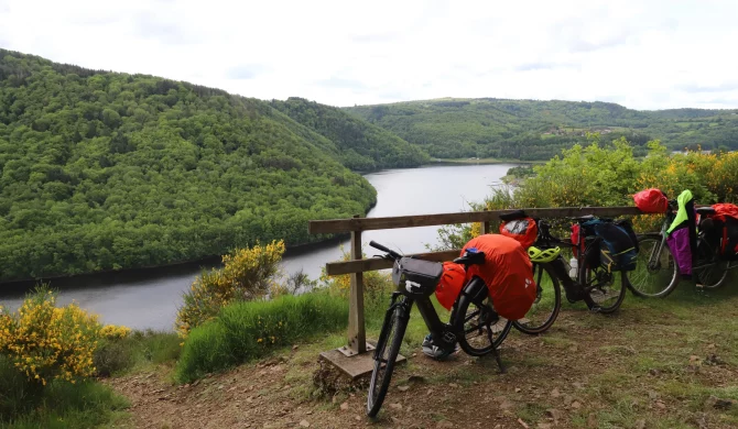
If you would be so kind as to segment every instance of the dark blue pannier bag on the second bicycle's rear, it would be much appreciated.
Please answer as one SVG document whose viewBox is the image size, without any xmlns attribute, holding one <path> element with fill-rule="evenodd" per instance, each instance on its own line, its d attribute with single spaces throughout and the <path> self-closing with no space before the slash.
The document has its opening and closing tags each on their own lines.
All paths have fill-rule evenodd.
<svg viewBox="0 0 738 429">
<path fill-rule="evenodd" d="M 586 235 L 599 238 L 599 264 L 609 272 L 633 271 L 638 260 L 638 242 L 627 221 L 593 219 L 582 224 Z"/>
</svg>

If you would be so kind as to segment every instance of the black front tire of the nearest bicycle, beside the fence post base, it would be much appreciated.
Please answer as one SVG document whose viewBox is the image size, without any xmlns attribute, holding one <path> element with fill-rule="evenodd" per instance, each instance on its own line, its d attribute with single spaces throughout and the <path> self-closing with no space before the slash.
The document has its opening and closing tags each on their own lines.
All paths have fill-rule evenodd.
<svg viewBox="0 0 738 429">
<path fill-rule="evenodd" d="M 388 314 L 384 319 L 379 341 L 377 341 L 375 370 L 371 372 L 369 382 L 369 395 L 367 396 L 367 416 L 369 417 L 376 417 L 382 407 L 409 320 L 410 315 L 405 315 L 405 308 L 402 305 L 395 307 L 394 311 Z M 383 366 L 382 363 L 384 363 Z"/>
</svg>

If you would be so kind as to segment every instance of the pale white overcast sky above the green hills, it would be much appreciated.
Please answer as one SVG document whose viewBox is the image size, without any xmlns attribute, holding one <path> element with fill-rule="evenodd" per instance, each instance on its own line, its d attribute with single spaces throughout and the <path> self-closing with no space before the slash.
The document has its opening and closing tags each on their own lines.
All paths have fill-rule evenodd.
<svg viewBox="0 0 738 429">
<path fill-rule="evenodd" d="M 0 0 L 0 47 L 247 97 L 738 108 L 738 1 Z"/>
</svg>

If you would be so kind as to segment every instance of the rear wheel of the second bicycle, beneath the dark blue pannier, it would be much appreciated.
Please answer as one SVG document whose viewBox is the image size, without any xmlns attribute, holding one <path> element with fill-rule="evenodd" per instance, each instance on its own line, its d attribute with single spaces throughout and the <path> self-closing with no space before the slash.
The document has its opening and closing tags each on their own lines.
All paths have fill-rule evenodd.
<svg viewBox="0 0 738 429">
<path fill-rule="evenodd" d="M 589 268 L 582 264 L 578 277 L 589 297 L 599 306 L 599 312 L 615 312 L 626 299 L 628 274 L 625 271 L 608 272 L 601 265 Z"/>
</svg>

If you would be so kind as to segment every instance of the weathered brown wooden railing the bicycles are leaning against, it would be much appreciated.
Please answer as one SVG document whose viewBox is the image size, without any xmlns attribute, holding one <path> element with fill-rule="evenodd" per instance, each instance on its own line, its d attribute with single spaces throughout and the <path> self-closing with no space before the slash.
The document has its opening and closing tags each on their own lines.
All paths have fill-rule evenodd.
<svg viewBox="0 0 738 429">
<path fill-rule="evenodd" d="M 562 207 L 524 209 L 525 213 L 535 218 L 574 218 L 586 215 L 599 217 L 636 216 L 642 212 L 636 207 Z M 500 220 L 500 215 L 510 210 L 466 211 L 443 215 L 399 216 L 392 218 L 360 218 L 313 220 L 310 222 L 311 234 L 351 233 L 350 261 L 326 264 L 326 274 L 350 274 L 348 345 L 341 348 L 346 355 L 360 354 L 367 351 L 367 338 L 363 324 L 363 273 L 368 271 L 391 268 L 392 262 L 382 258 L 362 258 L 361 232 L 397 228 L 432 227 L 457 223 L 481 223 L 481 232 L 490 231 L 491 222 Z M 451 261 L 458 256 L 458 250 L 420 253 L 414 256 L 428 261 Z"/>
</svg>

